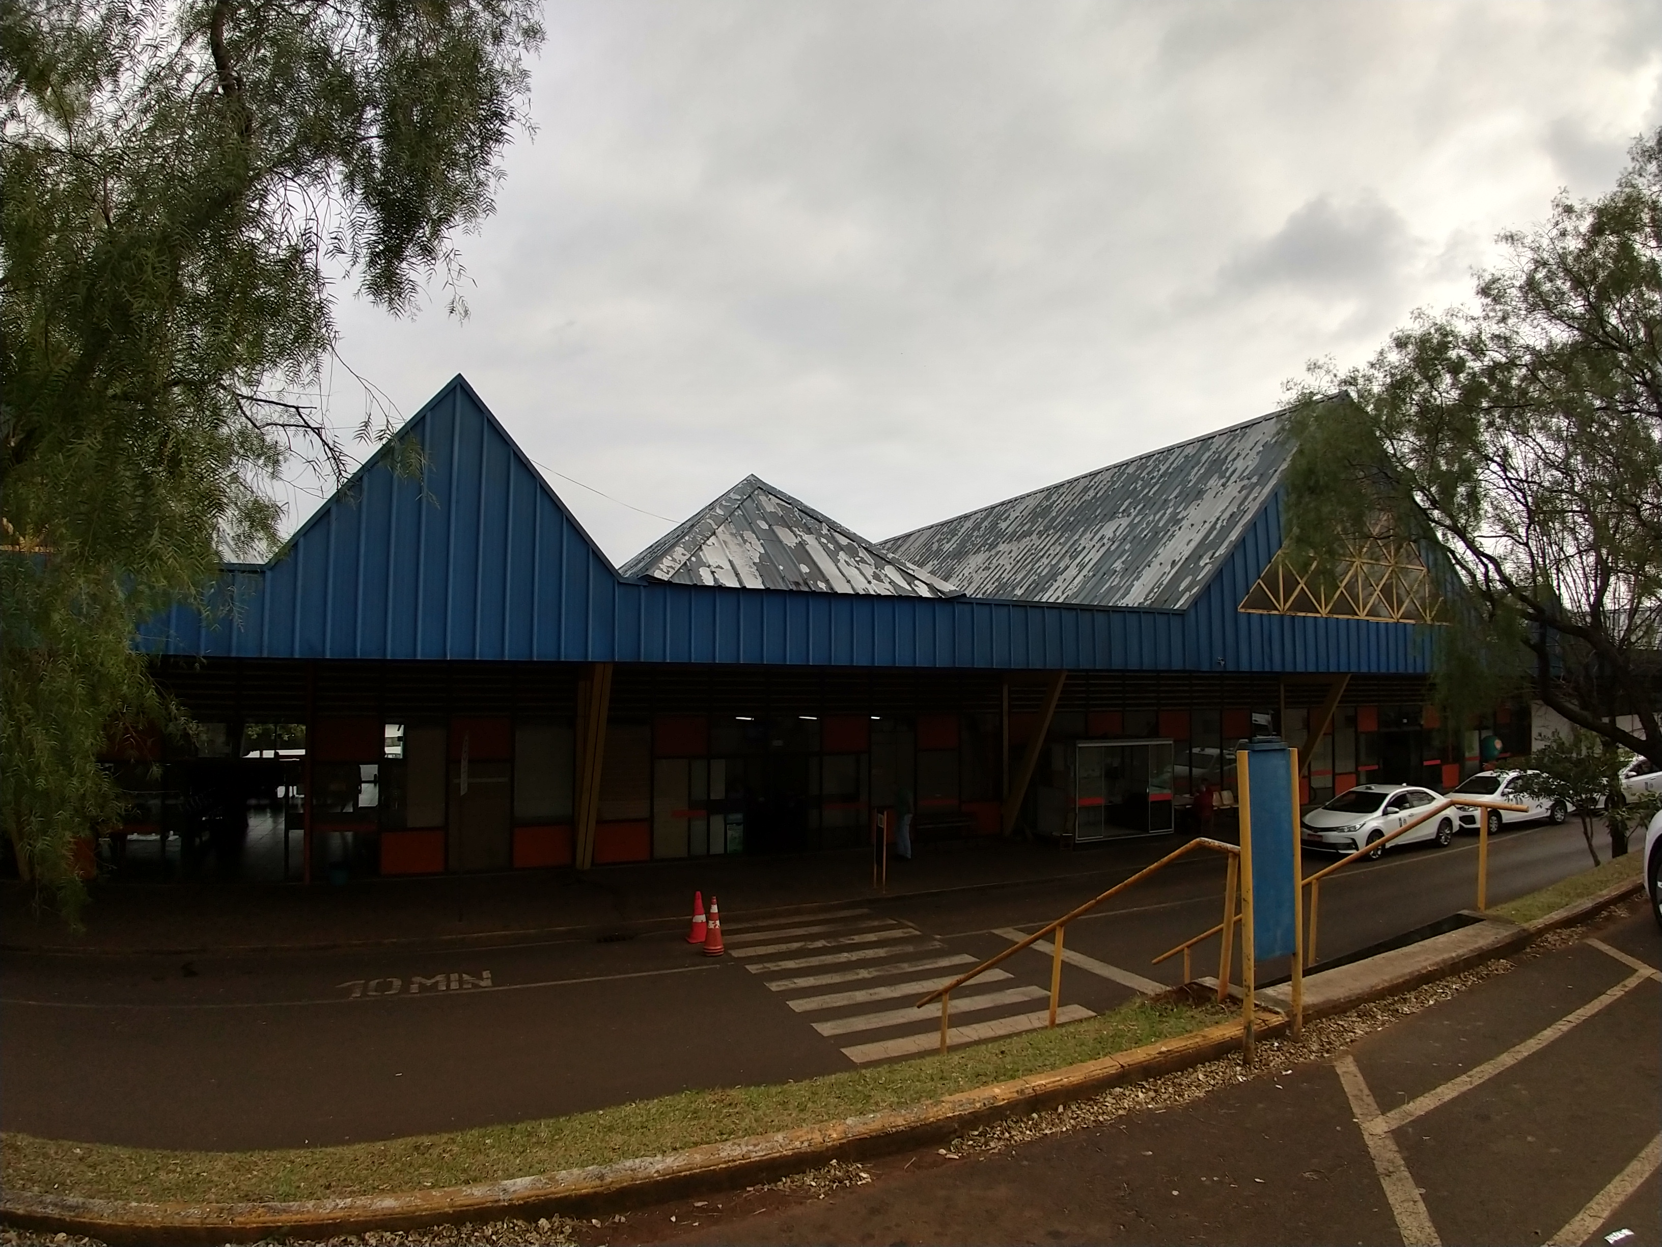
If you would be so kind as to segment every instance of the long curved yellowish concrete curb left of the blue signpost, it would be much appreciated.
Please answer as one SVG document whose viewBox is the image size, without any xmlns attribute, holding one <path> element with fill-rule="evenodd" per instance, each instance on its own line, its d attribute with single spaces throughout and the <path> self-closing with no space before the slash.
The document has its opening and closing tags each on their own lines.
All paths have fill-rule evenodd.
<svg viewBox="0 0 1662 1247">
<path fill-rule="evenodd" d="M 1285 1028 L 1286 1019 L 1280 1014 L 1258 1014 L 1260 1038 L 1280 1034 Z M 587 1217 L 951 1139 L 1002 1117 L 1188 1069 L 1237 1051 L 1240 1042 L 1242 1023 L 1235 1019 L 1065 1069 L 961 1091 L 932 1104 L 542 1177 L 286 1204 L 133 1204 L 5 1192 L 0 1195 L 0 1219 L 22 1229 L 85 1234 L 110 1244 L 219 1244 L 271 1237 L 327 1239 L 504 1217 Z"/>
</svg>

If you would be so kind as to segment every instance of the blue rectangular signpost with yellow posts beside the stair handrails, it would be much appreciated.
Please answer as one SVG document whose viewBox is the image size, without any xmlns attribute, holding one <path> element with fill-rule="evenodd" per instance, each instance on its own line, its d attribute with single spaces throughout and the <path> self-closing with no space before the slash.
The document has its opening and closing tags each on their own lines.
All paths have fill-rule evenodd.
<svg viewBox="0 0 1662 1247">
<path fill-rule="evenodd" d="M 1245 1059 L 1253 1056 L 1258 959 L 1291 958 L 1293 1036 L 1303 1029 L 1303 866 L 1298 851 L 1298 750 L 1251 740 L 1235 753 L 1242 811 L 1242 979 Z"/>
</svg>

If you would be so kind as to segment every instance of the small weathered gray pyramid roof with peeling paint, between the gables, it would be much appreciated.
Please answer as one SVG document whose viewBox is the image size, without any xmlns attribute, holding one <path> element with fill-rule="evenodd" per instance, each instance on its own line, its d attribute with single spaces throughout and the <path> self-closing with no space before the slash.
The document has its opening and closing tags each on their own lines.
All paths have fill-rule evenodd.
<svg viewBox="0 0 1662 1247">
<path fill-rule="evenodd" d="M 957 597 L 962 592 L 755 476 L 637 554 L 622 572 L 728 589 L 881 597 Z"/>
</svg>

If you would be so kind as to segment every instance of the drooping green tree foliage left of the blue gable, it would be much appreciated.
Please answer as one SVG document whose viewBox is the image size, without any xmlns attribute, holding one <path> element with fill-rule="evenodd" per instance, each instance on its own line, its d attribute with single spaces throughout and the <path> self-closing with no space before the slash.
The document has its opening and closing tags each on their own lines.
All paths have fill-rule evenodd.
<svg viewBox="0 0 1662 1247">
<path fill-rule="evenodd" d="M 530 0 L 0 10 L 0 813 L 66 908 L 98 753 L 166 712 L 135 625 L 269 549 L 293 456 L 349 467 L 299 397 L 341 281 L 465 311 L 540 38 Z"/>
</svg>

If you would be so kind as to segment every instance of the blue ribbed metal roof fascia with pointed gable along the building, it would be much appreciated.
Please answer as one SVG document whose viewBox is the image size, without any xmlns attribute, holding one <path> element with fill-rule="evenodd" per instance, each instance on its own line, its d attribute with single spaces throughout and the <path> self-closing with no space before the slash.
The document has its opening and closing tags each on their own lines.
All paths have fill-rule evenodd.
<svg viewBox="0 0 1662 1247">
<path fill-rule="evenodd" d="M 1030 670 L 1424 673 L 1406 624 L 1242 614 L 1281 540 L 1280 497 L 1187 610 L 886 597 L 632 580 L 583 532 L 462 379 L 264 567 L 228 567 L 204 619 L 140 635 L 168 655 L 788 663 Z"/>
</svg>

